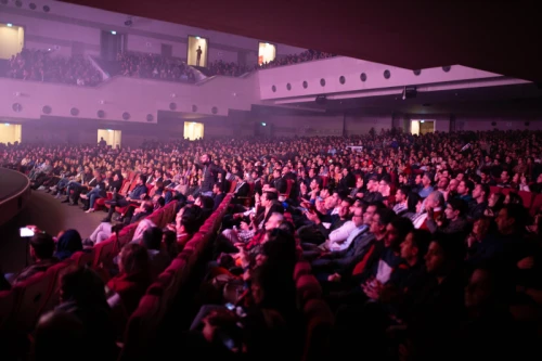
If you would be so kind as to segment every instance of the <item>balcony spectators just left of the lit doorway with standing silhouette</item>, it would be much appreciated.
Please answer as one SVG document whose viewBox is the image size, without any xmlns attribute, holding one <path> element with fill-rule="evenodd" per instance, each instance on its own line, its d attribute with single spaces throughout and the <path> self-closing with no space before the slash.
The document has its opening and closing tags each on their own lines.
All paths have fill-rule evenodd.
<svg viewBox="0 0 542 361">
<path fill-rule="evenodd" d="M 129 77 L 193 82 L 194 73 L 183 61 L 157 54 L 122 52 L 117 55 L 120 75 Z"/>
</svg>

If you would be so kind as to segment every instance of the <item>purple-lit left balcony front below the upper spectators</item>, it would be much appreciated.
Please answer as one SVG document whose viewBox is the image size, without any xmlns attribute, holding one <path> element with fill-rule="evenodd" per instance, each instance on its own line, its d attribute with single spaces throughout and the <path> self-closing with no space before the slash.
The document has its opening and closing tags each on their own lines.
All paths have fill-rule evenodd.
<svg viewBox="0 0 542 361">
<path fill-rule="evenodd" d="M 117 76 L 94 88 L 0 78 L 0 116 L 11 119 L 55 116 L 153 124 L 158 111 L 227 116 L 230 109 L 249 111 L 255 103 L 256 74 L 196 85 Z"/>
</svg>

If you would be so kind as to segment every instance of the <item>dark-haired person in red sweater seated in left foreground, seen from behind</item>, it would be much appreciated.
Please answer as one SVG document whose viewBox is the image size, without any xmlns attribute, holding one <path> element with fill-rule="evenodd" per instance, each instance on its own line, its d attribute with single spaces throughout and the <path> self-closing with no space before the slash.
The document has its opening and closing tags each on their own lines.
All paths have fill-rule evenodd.
<svg viewBox="0 0 542 361">
<path fill-rule="evenodd" d="M 120 250 L 119 256 L 119 273 L 107 282 L 107 287 L 118 294 L 130 315 L 151 284 L 149 254 L 145 247 L 129 243 Z"/>
</svg>

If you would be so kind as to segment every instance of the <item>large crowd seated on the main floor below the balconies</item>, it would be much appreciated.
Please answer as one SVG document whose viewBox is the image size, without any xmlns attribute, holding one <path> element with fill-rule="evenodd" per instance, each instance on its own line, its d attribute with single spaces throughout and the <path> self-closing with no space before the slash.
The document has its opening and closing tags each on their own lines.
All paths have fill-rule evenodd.
<svg viewBox="0 0 542 361">
<path fill-rule="evenodd" d="M 304 259 L 335 313 L 328 348 L 337 357 L 363 350 L 369 359 L 527 358 L 542 336 L 541 145 L 540 132 L 417 137 L 392 130 L 350 138 L 147 143 L 116 153 L 20 144 L 2 150 L 2 165 L 28 172 L 37 189 L 54 178 L 47 185 L 51 193 L 61 190 L 67 204 L 107 171 L 125 179 L 136 172 L 132 192 L 138 186 L 145 192 L 142 185 L 154 179 L 164 201 L 185 204 L 165 230 L 140 220 L 116 259 L 107 288 L 130 312 L 175 257 L 175 247 L 160 247 L 164 233 L 182 247 L 202 224 L 193 220 L 209 217 L 223 194 L 233 193 L 212 244 L 205 278 L 212 281 L 206 281 L 209 289 L 201 292 L 201 310 L 184 335 L 188 349 L 232 359 L 238 353 L 299 359 L 305 321 L 293 274 Z M 53 176 L 54 168 L 68 171 L 67 166 L 81 167 L 82 175 L 77 184 L 70 186 L 67 178 L 62 188 L 65 177 Z M 120 212 L 122 221 L 137 216 L 140 203 L 132 201 L 143 199 L 140 211 L 151 211 L 147 196 L 112 197 L 100 232 L 114 232 L 116 206 L 132 205 L 131 212 Z M 35 265 L 66 257 L 59 256 L 62 244 L 69 254 L 86 243 L 65 233 L 76 241 L 59 240 L 56 256 L 52 238 L 31 240 Z M 40 250 L 40 242 L 49 246 Z M 90 284 L 89 272 L 69 276 Z M 63 292 L 54 317 L 68 318 L 64 294 L 74 292 Z M 101 291 L 93 296 L 107 300 Z M 91 307 L 77 296 L 67 301 L 75 309 Z M 92 306 L 102 314 L 92 325 L 77 312 L 73 322 L 83 330 L 112 330 L 104 317 L 115 306 L 109 304 Z M 106 332 L 93 335 L 103 337 L 104 349 L 111 345 Z"/>
</svg>

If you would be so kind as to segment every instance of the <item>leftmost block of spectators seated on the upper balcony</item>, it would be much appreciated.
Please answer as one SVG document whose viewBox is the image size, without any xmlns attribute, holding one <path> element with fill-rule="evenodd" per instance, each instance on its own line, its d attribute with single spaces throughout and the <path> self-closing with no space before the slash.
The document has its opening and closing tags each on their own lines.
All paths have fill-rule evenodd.
<svg viewBox="0 0 542 361">
<path fill-rule="evenodd" d="M 63 82 L 93 87 L 102 81 L 100 73 L 85 56 L 63 57 L 54 52 L 36 49 L 23 49 L 9 61 L 10 78 Z"/>
</svg>

